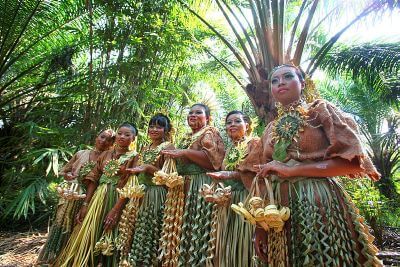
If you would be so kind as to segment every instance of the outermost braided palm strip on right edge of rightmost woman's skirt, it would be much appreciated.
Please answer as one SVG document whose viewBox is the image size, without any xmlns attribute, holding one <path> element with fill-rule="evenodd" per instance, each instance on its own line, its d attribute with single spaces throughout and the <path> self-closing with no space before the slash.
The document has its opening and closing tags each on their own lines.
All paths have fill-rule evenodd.
<svg viewBox="0 0 400 267">
<path fill-rule="evenodd" d="M 350 196 L 345 192 L 343 194 L 344 202 L 351 215 L 352 222 L 354 224 L 355 231 L 358 234 L 358 241 L 362 246 L 361 253 L 367 259 L 364 266 L 382 266 L 381 261 L 376 257 L 378 249 L 372 244 L 374 237 L 369 233 L 368 226 L 363 223 L 363 218 L 359 213 L 359 210 L 351 201 Z"/>
</svg>

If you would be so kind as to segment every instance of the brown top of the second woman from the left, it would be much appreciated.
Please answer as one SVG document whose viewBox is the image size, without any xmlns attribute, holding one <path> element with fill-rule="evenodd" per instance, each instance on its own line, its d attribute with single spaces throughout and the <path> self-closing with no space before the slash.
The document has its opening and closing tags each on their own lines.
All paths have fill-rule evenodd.
<svg viewBox="0 0 400 267">
<path fill-rule="evenodd" d="M 131 152 L 127 152 L 127 153 L 131 153 Z M 101 175 L 103 174 L 104 167 L 106 166 L 108 161 L 114 160 L 114 159 L 119 159 L 123 155 L 125 155 L 125 154 L 117 154 L 115 149 L 104 151 L 98 157 L 96 166 L 93 168 L 93 170 L 88 175 L 86 175 L 85 178 L 83 178 L 83 180 L 89 180 L 89 181 L 98 183 Z M 121 166 L 125 166 L 126 168 L 131 168 L 131 167 L 135 166 L 136 162 L 137 162 L 137 156 L 134 156 L 133 160 L 128 159 Z M 118 174 L 118 176 L 120 177 L 120 180 L 118 182 L 117 187 L 121 188 L 125 185 L 125 183 L 128 179 L 128 176 L 121 175 L 121 174 Z"/>
</svg>

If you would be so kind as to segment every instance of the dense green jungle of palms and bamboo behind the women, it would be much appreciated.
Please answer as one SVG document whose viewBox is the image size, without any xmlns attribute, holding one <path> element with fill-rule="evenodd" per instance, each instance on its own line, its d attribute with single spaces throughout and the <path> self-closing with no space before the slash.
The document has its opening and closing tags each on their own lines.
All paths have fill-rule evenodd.
<svg viewBox="0 0 400 267">
<path fill-rule="evenodd" d="M 400 250 L 400 34 L 372 34 L 399 18 L 399 1 L 0 0 L 0 10 L 1 231 L 47 228 L 60 168 L 100 129 L 133 122 L 139 148 L 163 112 L 179 139 L 188 106 L 208 99 L 221 132 L 239 109 L 260 135 L 275 115 L 269 72 L 291 61 L 359 123 L 382 178 L 343 183 L 378 246 Z M 352 39 L 361 29 L 369 38 Z"/>
</svg>

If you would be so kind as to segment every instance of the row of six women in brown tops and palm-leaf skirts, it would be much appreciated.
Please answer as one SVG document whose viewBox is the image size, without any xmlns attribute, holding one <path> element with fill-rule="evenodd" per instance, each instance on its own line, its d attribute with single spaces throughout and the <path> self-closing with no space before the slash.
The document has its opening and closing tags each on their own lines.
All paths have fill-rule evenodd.
<svg viewBox="0 0 400 267">
<path fill-rule="evenodd" d="M 38 262 L 54 266 L 380 266 L 373 237 L 335 178 L 379 178 L 355 122 L 324 100 L 306 103 L 304 75 L 295 66 L 277 67 L 270 81 L 278 116 L 261 139 L 251 136 L 251 121 L 245 114 L 232 111 L 225 119 L 230 138 L 225 149 L 204 104 L 190 108 L 191 132 L 176 146 L 171 122 L 162 114 L 151 118 L 150 144 L 139 153 L 129 150 L 137 135 L 133 125 L 121 125 L 115 135 L 102 131 L 95 149 L 78 152 L 64 167 L 65 180 L 75 179 L 86 195 L 60 200 Z M 173 201 L 171 189 L 153 179 L 171 161 L 184 180 L 183 214 L 172 227 L 164 216 Z M 128 255 L 122 257 L 116 248 L 121 234 L 118 222 L 135 209 L 127 209 L 131 200 L 118 190 L 131 184 L 132 175 L 145 192 L 130 224 Z M 222 204 L 212 195 L 218 190 L 229 196 Z M 290 216 L 278 228 L 266 226 L 263 219 L 249 222 L 230 208 L 249 199 L 260 199 L 265 216 L 274 205 L 288 207 Z M 168 231 L 179 237 L 163 239 Z M 176 248 L 174 260 L 165 260 L 163 246 Z"/>
</svg>

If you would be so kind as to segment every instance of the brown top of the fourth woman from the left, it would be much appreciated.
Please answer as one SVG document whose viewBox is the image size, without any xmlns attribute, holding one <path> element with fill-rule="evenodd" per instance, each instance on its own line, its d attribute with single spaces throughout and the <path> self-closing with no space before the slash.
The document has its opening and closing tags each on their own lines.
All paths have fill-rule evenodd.
<svg viewBox="0 0 400 267">
<path fill-rule="evenodd" d="M 207 126 L 189 146 L 189 149 L 204 151 L 214 169 L 219 170 L 221 168 L 225 156 L 225 147 L 217 128 Z"/>
</svg>

